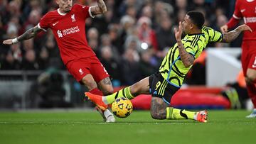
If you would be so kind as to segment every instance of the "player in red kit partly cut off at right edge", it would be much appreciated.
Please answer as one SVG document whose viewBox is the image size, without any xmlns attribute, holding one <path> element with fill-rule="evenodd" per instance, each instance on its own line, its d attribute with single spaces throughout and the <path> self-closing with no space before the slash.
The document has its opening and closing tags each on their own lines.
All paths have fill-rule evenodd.
<svg viewBox="0 0 256 144">
<path fill-rule="evenodd" d="M 233 17 L 220 30 L 226 33 L 230 28 L 234 28 L 240 19 L 252 29 L 252 33 L 244 32 L 241 61 L 247 92 L 254 105 L 252 113 L 247 118 L 256 118 L 256 0 L 237 0 Z"/>
</svg>

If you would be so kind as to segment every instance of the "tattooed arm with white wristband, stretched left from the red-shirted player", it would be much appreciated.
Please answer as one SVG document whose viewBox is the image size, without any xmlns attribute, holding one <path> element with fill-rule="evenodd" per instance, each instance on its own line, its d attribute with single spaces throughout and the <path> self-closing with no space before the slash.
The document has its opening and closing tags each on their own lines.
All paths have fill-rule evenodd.
<svg viewBox="0 0 256 144">
<path fill-rule="evenodd" d="M 41 31 L 42 30 L 40 28 L 38 28 L 38 26 L 35 26 L 35 27 L 29 29 L 28 31 L 26 31 L 25 33 L 23 33 L 22 35 L 18 36 L 18 38 L 4 40 L 3 43 L 5 45 L 12 45 L 12 44 L 18 43 L 19 41 L 22 41 L 22 40 L 28 40 L 30 38 L 35 37 L 36 34 Z"/>
</svg>

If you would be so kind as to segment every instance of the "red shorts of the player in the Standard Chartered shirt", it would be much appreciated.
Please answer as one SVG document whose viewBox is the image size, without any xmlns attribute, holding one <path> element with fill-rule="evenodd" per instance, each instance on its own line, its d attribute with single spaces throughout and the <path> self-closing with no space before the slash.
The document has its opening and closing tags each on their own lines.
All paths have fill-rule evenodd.
<svg viewBox="0 0 256 144">
<path fill-rule="evenodd" d="M 95 79 L 95 82 L 97 83 L 106 77 L 110 77 L 107 70 L 105 70 L 105 67 L 103 67 L 96 56 L 73 60 L 68 62 L 66 67 L 68 72 L 70 72 L 78 82 L 80 82 L 87 74 L 92 74 L 93 79 Z"/>
</svg>

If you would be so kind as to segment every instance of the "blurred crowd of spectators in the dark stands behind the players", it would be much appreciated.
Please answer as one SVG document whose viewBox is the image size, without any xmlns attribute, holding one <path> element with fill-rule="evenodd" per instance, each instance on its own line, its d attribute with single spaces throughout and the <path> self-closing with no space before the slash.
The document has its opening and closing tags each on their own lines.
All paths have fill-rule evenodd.
<svg viewBox="0 0 256 144">
<path fill-rule="evenodd" d="M 95 0 L 74 4 L 97 5 Z M 87 42 L 112 77 L 114 86 L 129 85 L 158 70 L 170 46 L 174 27 L 187 11 L 202 11 L 205 26 L 219 30 L 233 15 L 235 0 L 106 0 L 107 13 L 87 18 Z M 36 26 L 55 0 L 1 0 L 0 41 L 16 38 Z M 235 43 L 212 47 L 240 47 Z M 0 44 L 0 70 L 65 70 L 51 31 L 15 45 Z"/>
</svg>

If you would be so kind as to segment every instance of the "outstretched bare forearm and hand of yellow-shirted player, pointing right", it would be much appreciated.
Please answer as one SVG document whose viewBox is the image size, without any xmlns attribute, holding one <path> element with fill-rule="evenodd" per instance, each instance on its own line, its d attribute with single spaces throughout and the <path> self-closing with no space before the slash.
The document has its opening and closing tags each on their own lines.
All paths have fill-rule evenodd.
<svg viewBox="0 0 256 144">
<path fill-rule="evenodd" d="M 231 41 L 235 40 L 235 38 L 238 38 L 238 35 L 240 35 L 242 31 L 252 32 L 252 29 L 246 24 L 238 26 L 238 28 L 235 28 L 235 30 L 233 31 L 230 31 L 228 33 L 223 33 L 223 40 L 221 40 L 221 42 L 230 43 Z"/>
</svg>

